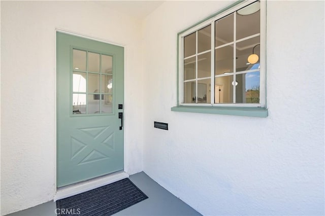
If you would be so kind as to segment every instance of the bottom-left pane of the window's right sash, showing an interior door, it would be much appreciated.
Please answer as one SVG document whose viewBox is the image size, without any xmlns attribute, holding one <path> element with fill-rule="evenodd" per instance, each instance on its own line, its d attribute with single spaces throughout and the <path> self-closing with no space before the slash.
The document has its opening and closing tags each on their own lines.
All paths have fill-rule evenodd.
<svg viewBox="0 0 325 216">
<path fill-rule="evenodd" d="M 224 76 L 215 78 L 214 102 L 215 103 L 232 103 L 233 100 L 233 83 L 234 76 Z M 236 85 L 236 84 L 235 84 Z"/>
</svg>

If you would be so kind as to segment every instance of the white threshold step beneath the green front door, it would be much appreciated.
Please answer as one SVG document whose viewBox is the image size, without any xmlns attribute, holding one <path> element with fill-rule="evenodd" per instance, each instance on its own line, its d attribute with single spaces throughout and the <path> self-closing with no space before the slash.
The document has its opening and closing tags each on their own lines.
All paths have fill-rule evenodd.
<svg viewBox="0 0 325 216">
<path fill-rule="evenodd" d="M 124 171 L 114 172 L 101 177 L 96 177 L 85 182 L 76 183 L 70 186 L 58 188 L 54 195 L 53 201 L 74 196 L 95 188 L 102 187 L 121 179 L 128 178 L 128 174 Z"/>
</svg>

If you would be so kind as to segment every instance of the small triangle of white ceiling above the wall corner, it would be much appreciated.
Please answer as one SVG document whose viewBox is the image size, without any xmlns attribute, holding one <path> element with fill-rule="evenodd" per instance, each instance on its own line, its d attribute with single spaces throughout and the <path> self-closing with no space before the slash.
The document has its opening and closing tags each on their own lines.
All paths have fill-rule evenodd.
<svg viewBox="0 0 325 216">
<path fill-rule="evenodd" d="M 144 19 L 153 10 L 158 8 L 165 1 L 94 1 L 101 7 L 132 16 L 136 19 Z"/>
</svg>

